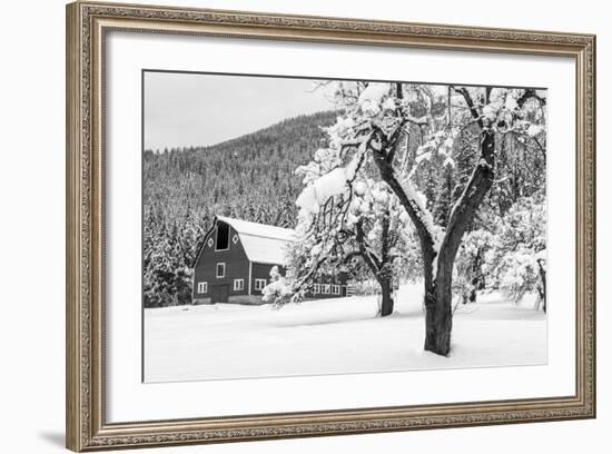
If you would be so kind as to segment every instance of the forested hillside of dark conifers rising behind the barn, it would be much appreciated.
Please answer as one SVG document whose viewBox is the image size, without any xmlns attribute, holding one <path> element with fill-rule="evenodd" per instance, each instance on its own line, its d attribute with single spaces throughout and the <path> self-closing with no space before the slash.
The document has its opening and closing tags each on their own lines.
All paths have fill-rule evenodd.
<svg viewBox="0 0 612 454">
<path fill-rule="evenodd" d="M 303 187 L 294 171 L 324 145 L 320 127 L 336 116 L 302 116 L 209 147 L 146 150 L 145 306 L 190 302 L 190 268 L 215 215 L 294 227 Z"/>
</svg>

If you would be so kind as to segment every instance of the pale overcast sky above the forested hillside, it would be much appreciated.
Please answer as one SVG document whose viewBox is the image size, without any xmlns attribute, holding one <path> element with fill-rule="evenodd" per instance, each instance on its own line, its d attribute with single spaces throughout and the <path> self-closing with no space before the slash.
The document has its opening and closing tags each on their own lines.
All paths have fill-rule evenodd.
<svg viewBox="0 0 612 454">
<path fill-rule="evenodd" d="M 146 72 L 145 149 L 214 145 L 332 109 L 326 90 L 313 88 L 306 79 Z"/>
</svg>

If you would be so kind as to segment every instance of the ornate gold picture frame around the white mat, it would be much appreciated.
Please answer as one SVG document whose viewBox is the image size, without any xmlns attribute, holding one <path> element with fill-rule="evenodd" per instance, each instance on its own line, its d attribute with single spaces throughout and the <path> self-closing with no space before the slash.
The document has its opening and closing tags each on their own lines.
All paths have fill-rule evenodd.
<svg viewBox="0 0 612 454">
<path fill-rule="evenodd" d="M 575 62 L 575 392 L 537 398 L 107 421 L 106 68 L 110 31 L 507 55 Z M 75 2 L 67 7 L 67 447 L 89 451 L 595 417 L 595 37 Z M 136 150 L 135 152 L 138 152 Z M 570 241 L 570 238 L 567 238 Z M 567 296 L 567 300 L 571 297 Z M 139 329 L 139 327 L 135 327 Z M 203 411 L 203 414 L 205 412 Z"/>
</svg>

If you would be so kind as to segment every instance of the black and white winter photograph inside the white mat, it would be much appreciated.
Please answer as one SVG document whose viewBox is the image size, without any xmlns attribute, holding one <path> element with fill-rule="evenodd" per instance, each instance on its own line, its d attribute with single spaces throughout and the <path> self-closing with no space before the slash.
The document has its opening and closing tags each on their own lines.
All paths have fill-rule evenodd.
<svg viewBox="0 0 612 454">
<path fill-rule="evenodd" d="M 145 383 L 546 364 L 545 87 L 141 88 Z"/>
</svg>

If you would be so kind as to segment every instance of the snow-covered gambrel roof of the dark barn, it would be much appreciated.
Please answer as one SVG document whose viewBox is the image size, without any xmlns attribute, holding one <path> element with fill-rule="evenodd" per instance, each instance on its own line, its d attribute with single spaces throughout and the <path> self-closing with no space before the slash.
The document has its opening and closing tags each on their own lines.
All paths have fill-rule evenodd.
<svg viewBox="0 0 612 454">
<path fill-rule="evenodd" d="M 250 261 L 274 265 L 286 263 L 287 243 L 295 240 L 294 230 L 225 216 L 217 216 L 217 220 L 228 224 L 239 234 Z"/>
</svg>

